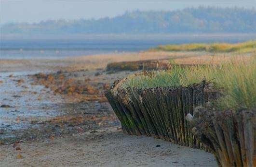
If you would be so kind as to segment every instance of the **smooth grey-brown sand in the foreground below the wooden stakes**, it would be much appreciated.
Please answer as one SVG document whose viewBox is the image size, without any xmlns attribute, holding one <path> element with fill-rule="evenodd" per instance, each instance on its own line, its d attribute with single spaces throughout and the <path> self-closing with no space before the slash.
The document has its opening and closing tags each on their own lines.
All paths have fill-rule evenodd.
<svg viewBox="0 0 256 167">
<path fill-rule="evenodd" d="M 113 127 L 65 138 L 2 145 L 0 166 L 216 167 L 217 164 L 212 154 L 202 150 L 152 137 L 126 135 Z"/>
</svg>

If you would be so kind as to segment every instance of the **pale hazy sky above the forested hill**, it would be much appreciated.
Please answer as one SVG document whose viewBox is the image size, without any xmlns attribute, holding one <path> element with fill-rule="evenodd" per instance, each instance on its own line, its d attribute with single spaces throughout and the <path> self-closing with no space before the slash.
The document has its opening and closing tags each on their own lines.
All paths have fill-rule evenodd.
<svg viewBox="0 0 256 167">
<path fill-rule="evenodd" d="M 256 7 L 256 0 L 0 0 L 0 23 L 47 19 L 113 17 L 134 10 L 176 10 L 186 7 Z"/>
</svg>

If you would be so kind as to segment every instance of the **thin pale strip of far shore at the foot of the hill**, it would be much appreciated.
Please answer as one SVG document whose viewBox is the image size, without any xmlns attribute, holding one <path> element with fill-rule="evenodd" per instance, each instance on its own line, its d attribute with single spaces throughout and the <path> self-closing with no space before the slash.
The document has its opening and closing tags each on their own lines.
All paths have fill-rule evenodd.
<svg viewBox="0 0 256 167">
<path fill-rule="evenodd" d="M 60 34 L 60 35 L 45 35 L 45 34 L 0 34 L 1 40 L 27 40 L 27 39 L 101 39 L 101 40 L 163 40 L 163 39 L 183 39 L 183 38 L 244 38 L 244 39 L 256 39 L 256 33 L 180 33 L 180 34 Z"/>
</svg>

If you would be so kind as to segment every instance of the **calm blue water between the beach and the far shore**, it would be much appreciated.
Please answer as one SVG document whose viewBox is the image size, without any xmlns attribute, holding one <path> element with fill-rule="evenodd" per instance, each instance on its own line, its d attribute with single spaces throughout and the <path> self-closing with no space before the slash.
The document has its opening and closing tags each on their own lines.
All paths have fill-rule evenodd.
<svg viewBox="0 0 256 167">
<path fill-rule="evenodd" d="M 118 40 L 0 40 L 0 59 L 61 59 L 71 56 L 111 52 L 134 52 L 164 44 L 192 42 L 242 42 L 246 38 L 188 37 L 168 39 L 118 39 Z"/>
</svg>

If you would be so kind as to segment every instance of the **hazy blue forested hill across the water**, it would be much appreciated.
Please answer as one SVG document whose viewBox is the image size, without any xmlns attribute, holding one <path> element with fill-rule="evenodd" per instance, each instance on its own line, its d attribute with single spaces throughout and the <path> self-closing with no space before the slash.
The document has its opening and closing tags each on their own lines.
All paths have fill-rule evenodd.
<svg viewBox="0 0 256 167">
<path fill-rule="evenodd" d="M 176 11 L 125 12 L 113 18 L 47 20 L 1 26 L 1 34 L 256 33 L 256 10 L 199 7 Z"/>
</svg>

